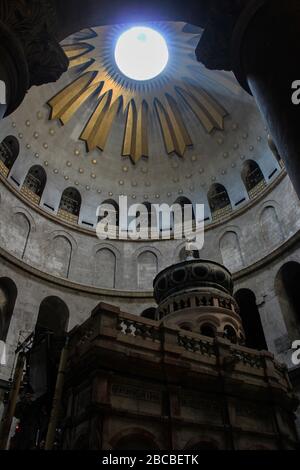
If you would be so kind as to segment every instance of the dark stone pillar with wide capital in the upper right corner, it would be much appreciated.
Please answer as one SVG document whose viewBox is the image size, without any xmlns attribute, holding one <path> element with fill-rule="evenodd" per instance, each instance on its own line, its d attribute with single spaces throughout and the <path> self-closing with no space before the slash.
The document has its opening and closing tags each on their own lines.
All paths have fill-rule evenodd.
<svg viewBox="0 0 300 470">
<path fill-rule="evenodd" d="M 197 57 L 210 69 L 233 70 L 252 93 L 300 197 L 299 0 L 219 0 Z"/>
</svg>

